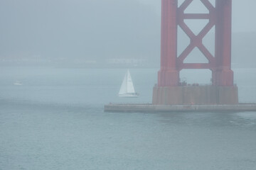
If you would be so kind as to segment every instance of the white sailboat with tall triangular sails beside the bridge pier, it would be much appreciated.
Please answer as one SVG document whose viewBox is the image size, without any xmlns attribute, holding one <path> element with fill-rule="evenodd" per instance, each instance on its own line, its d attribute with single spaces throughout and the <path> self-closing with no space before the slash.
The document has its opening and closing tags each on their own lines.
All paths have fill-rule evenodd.
<svg viewBox="0 0 256 170">
<path fill-rule="evenodd" d="M 124 76 L 124 80 L 122 81 L 122 86 L 119 90 L 119 97 L 138 97 L 139 94 L 135 93 L 134 86 L 132 83 L 132 77 L 129 73 L 129 69 Z"/>
</svg>

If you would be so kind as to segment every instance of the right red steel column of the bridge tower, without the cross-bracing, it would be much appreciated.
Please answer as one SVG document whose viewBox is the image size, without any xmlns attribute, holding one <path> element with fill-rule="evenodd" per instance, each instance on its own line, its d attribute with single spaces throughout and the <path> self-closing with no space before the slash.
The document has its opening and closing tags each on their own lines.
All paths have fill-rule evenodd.
<svg viewBox="0 0 256 170">
<path fill-rule="evenodd" d="M 231 13 L 232 0 L 216 1 L 215 23 L 215 60 L 213 83 L 216 86 L 233 86 L 233 71 L 231 70 Z"/>
</svg>

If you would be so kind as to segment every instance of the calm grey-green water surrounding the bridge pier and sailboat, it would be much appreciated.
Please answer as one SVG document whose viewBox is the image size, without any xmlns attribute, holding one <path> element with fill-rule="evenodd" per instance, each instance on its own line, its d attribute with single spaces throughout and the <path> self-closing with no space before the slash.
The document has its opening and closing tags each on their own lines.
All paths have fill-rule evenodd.
<svg viewBox="0 0 256 170">
<path fill-rule="evenodd" d="M 157 71 L 130 69 L 140 96 L 127 99 L 126 69 L 1 67 L 0 169 L 256 169 L 255 112 L 104 113 L 151 103 Z M 240 102 L 256 102 L 255 72 L 235 69 Z"/>
</svg>

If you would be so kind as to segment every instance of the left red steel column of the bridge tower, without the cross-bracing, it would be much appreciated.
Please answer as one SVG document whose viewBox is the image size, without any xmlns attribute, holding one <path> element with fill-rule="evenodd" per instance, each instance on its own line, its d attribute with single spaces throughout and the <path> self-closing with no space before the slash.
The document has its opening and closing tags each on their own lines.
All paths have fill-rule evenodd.
<svg viewBox="0 0 256 170">
<path fill-rule="evenodd" d="M 178 86 L 176 0 L 162 0 L 161 11 L 161 69 L 158 86 Z"/>
</svg>

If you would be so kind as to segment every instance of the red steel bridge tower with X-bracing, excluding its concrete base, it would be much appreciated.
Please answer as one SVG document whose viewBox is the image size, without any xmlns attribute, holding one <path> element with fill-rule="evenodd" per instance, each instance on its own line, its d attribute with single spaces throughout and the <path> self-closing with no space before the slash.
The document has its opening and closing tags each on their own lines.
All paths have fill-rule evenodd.
<svg viewBox="0 0 256 170">
<path fill-rule="evenodd" d="M 210 69 L 213 85 L 233 86 L 231 70 L 231 10 L 232 0 L 215 0 L 215 7 L 208 0 L 201 0 L 209 13 L 184 13 L 193 0 L 186 0 L 178 7 L 177 0 L 162 0 L 161 12 L 161 69 L 158 86 L 178 86 L 181 69 Z M 208 19 L 208 24 L 195 35 L 185 19 Z M 181 55 L 177 56 L 178 26 L 191 39 Z M 203 45 L 203 38 L 215 26 L 215 56 Z M 198 47 L 208 63 L 183 63 L 192 50 Z"/>
</svg>

